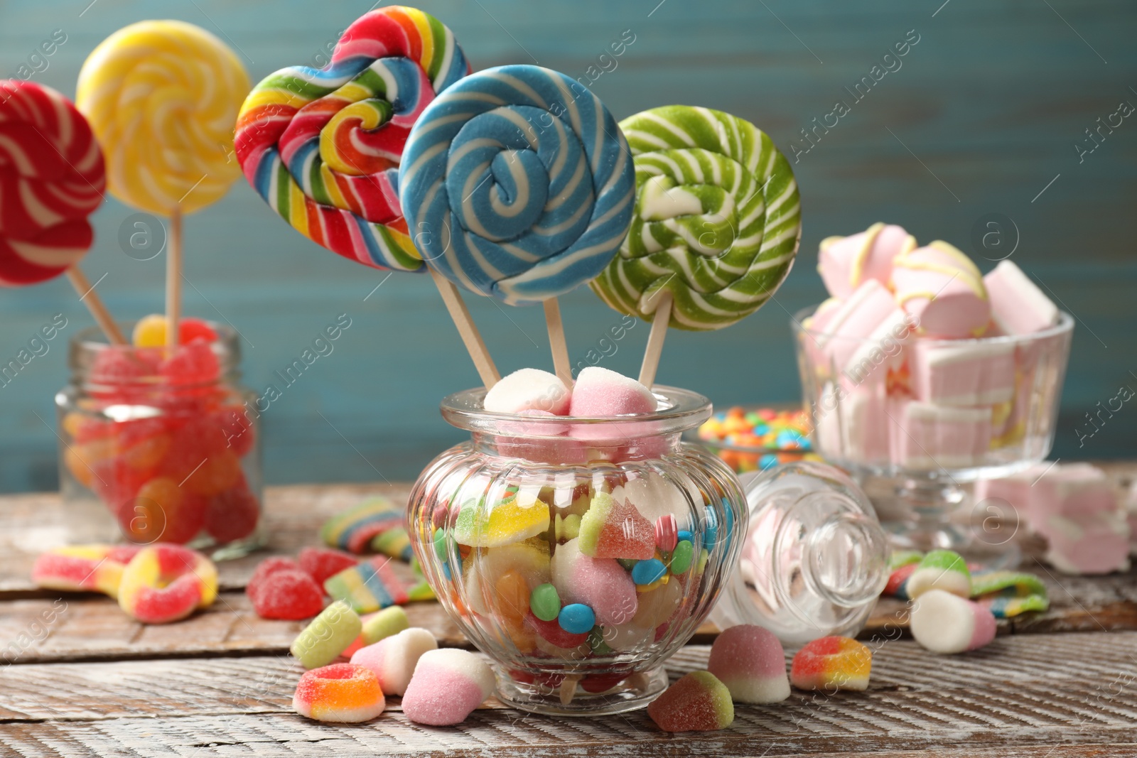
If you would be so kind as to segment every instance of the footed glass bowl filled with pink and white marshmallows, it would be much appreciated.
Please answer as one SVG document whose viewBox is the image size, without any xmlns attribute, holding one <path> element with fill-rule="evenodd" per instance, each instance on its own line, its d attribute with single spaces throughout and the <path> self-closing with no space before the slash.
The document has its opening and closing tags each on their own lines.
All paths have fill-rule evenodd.
<svg viewBox="0 0 1137 758">
<path fill-rule="evenodd" d="M 988 567 L 1019 563 L 1019 514 L 966 503 L 962 486 L 1036 464 L 1054 443 L 1073 319 L 1024 335 L 916 338 L 905 328 L 850 339 L 794 317 L 814 449 L 857 476 L 890 480 L 898 549 L 949 549 Z M 963 508 L 961 510 L 961 507 Z"/>
</svg>

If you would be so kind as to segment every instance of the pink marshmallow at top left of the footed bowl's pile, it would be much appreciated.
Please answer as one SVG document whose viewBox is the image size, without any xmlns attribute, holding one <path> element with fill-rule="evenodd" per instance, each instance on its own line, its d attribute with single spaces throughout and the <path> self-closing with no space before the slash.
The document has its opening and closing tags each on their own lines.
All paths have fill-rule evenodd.
<svg viewBox="0 0 1137 758">
<path fill-rule="evenodd" d="M 915 250 L 915 238 L 903 226 L 878 222 L 857 234 L 822 240 L 818 252 L 818 273 L 829 294 L 847 298 L 868 280 L 888 284 L 893 275 L 893 259 Z"/>
</svg>

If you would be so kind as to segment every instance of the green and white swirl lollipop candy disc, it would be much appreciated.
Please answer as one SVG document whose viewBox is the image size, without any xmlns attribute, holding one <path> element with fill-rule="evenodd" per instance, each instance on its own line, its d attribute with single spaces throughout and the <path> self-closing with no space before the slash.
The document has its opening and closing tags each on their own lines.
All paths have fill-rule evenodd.
<svg viewBox="0 0 1137 758">
<path fill-rule="evenodd" d="M 749 122 L 709 108 L 653 108 L 620 126 L 636 157 L 636 216 L 592 290 L 645 320 L 667 290 L 670 326 L 697 332 L 761 308 L 802 235 L 786 157 Z"/>
</svg>

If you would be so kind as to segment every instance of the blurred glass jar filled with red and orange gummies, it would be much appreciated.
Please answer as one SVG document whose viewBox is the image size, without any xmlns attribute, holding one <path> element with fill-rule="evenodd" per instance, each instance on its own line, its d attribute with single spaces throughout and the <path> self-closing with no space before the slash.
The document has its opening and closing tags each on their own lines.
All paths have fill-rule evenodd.
<svg viewBox="0 0 1137 758">
<path fill-rule="evenodd" d="M 68 542 L 176 542 L 223 559 L 263 542 L 256 395 L 232 328 L 166 348 L 70 342 L 56 394 Z M 130 331 L 126 330 L 128 334 Z"/>
</svg>

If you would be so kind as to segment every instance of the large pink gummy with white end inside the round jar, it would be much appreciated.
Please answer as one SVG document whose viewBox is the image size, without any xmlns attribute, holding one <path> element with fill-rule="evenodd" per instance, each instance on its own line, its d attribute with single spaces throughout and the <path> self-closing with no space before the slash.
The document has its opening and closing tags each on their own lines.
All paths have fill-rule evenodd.
<svg viewBox="0 0 1137 758">
<path fill-rule="evenodd" d="M 562 601 L 588 606 L 601 626 L 630 620 L 638 603 L 632 577 L 612 558 L 583 555 L 579 542 L 570 540 L 553 553 L 553 584 Z"/>
</svg>

